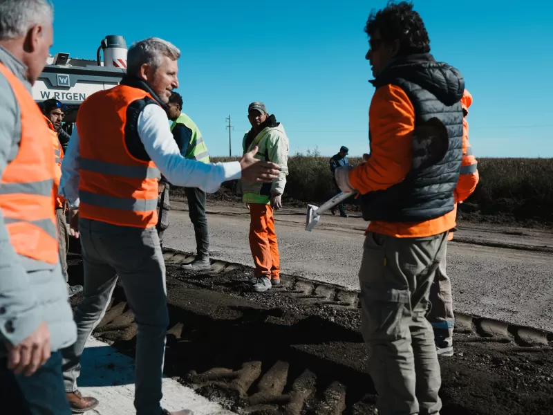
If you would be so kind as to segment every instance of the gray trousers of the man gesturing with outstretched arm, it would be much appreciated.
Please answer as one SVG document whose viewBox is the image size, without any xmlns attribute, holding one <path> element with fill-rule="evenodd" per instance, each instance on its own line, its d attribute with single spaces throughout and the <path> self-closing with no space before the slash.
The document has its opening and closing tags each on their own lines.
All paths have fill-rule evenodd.
<svg viewBox="0 0 553 415">
<path fill-rule="evenodd" d="M 66 391 L 77 390 L 80 358 L 102 320 L 118 277 L 138 326 L 135 400 L 138 415 L 160 415 L 165 335 L 169 325 L 165 263 L 156 228 L 140 229 L 79 220 L 84 299 L 75 312 L 77 342 L 64 349 Z"/>
</svg>

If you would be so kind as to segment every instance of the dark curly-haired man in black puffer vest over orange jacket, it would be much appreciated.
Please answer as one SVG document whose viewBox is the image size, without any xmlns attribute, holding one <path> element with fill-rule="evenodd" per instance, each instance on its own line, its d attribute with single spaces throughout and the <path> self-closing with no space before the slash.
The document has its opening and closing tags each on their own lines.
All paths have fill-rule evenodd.
<svg viewBox="0 0 553 415">
<path fill-rule="evenodd" d="M 365 31 L 376 88 L 371 154 L 358 167 L 339 167 L 335 178 L 342 191 L 359 191 L 371 222 L 359 270 L 368 369 L 380 415 L 438 414 L 440 365 L 425 315 L 456 225 L 465 82 L 429 54 L 411 3 L 371 12 Z"/>
</svg>

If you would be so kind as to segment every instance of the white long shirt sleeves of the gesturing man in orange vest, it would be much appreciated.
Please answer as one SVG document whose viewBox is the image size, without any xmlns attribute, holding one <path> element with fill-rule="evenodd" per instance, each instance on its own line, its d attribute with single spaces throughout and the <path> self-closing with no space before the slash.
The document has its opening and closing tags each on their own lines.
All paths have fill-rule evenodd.
<svg viewBox="0 0 553 415">
<path fill-rule="evenodd" d="M 214 193 L 224 181 L 236 180 L 242 176 L 242 169 L 237 161 L 200 163 L 182 157 L 169 128 L 167 115 L 157 104 L 147 105 L 138 116 L 138 136 L 153 163 L 169 183 L 174 185 L 199 187 L 204 192 Z M 62 162 L 58 192 L 73 209 L 79 206 L 79 154 L 79 133 L 74 128 Z"/>
</svg>

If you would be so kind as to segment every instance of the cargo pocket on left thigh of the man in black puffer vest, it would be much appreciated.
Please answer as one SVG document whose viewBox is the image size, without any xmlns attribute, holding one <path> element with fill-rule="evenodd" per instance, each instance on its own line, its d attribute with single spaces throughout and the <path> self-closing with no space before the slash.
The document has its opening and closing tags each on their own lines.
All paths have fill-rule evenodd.
<svg viewBox="0 0 553 415">
<path fill-rule="evenodd" d="M 361 287 L 362 333 L 366 341 L 393 341 L 406 337 L 409 326 L 402 318 L 409 315 L 409 291 Z"/>
</svg>

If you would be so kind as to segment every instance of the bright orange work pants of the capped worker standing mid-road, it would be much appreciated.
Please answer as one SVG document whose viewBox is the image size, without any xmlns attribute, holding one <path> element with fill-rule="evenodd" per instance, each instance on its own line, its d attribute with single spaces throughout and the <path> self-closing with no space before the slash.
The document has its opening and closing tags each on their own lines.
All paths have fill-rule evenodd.
<svg viewBox="0 0 553 415">
<path fill-rule="evenodd" d="M 254 257 L 255 276 L 280 279 L 280 257 L 270 205 L 250 203 L 250 249 Z"/>
</svg>

